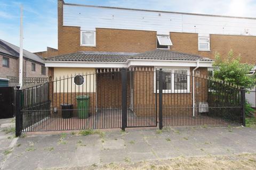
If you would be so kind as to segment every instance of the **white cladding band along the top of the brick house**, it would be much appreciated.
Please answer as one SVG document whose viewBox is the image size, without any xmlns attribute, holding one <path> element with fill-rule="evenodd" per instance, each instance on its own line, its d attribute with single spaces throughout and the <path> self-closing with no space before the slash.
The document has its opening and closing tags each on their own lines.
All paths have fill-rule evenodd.
<svg viewBox="0 0 256 170">
<path fill-rule="evenodd" d="M 256 19 L 68 4 L 63 5 L 63 25 L 81 27 L 81 30 L 95 30 L 95 28 L 148 30 L 164 35 L 169 35 L 169 32 L 191 32 L 206 35 L 256 36 Z"/>
</svg>

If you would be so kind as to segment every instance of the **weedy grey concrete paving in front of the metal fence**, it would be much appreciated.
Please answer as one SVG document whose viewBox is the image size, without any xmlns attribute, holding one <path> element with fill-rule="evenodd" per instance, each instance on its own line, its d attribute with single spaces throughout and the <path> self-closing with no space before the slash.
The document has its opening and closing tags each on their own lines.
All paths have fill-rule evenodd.
<svg viewBox="0 0 256 170">
<path fill-rule="evenodd" d="M 94 134 L 92 134 L 94 133 Z M 165 128 L 23 135 L 3 169 L 46 169 L 136 163 L 176 157 L 256 153 L 251 128 Z"/>
</svg>

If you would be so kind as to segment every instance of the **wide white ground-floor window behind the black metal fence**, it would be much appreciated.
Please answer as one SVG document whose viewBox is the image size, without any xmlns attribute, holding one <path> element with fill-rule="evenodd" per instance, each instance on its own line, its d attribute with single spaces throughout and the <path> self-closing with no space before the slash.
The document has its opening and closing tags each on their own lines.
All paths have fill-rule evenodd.
<svg viewBox="0 0 256 170">
<path fill-rule="evenodd" d="M 189 93 L 190 76 L 189 67 L 163 67 L 163 93 Z M 159 69 L 155 72 L 154 92 L 159 92 Z"/>
</svg>

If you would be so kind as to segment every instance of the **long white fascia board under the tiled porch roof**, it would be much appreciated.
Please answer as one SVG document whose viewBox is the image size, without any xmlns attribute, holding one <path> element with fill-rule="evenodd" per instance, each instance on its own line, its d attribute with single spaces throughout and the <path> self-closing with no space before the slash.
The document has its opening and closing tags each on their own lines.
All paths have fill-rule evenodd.
<svg viewBox="0 0 256 170">
<path fill-rule="evenodd" d="M 199 61 L 199 67 L 212 67 L 213 61 Z M 45 61 L 46 67 L 92 67 L 92 68 L 121 68 L 130 66 L 182 66 L 196 67 L 197 61 L 178 60 L 137 60 L 129 59 L 126 62 L 70 62 Z"/>
</svg>

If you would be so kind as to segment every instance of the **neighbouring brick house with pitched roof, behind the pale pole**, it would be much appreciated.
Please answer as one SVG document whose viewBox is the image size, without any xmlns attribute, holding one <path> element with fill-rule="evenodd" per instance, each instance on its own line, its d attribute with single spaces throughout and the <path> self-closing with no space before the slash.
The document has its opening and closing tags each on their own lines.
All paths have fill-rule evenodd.
<svg viewBox="0 0 256 170">
<path fill-rule="evenodd" d="M 0 39 L 0 78 L 9 79 L 9 86 L 19 83 L 19 47 Z M 47 80 L 48 69 L 43 58 L 23 50 L 24 83 L 43 83 Z"/>
</svg>

